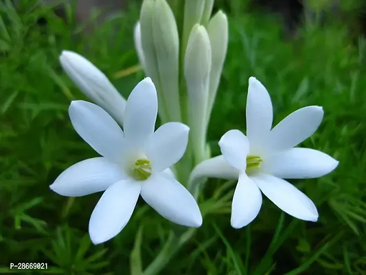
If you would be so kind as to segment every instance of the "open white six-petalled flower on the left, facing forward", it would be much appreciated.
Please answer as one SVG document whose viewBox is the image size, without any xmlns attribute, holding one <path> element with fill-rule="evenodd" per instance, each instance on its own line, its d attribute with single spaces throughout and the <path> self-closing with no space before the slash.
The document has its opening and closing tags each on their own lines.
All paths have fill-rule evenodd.
<svg viewBox="0 0 366 275">
<path fill-rule="evenodd" d="M 93 243 L 107 241 L 124 228 L 139 195 L 166 219 L 201 226 L 194 197 L 166 170 L 183 156 L 189 128 L 169 122 L 154 132 L 157 92 L 150 78 L 142 80 L 128 97 L 124 131 L 90 102 L 71 102 L 69 115 L 80 137 L 102 157 L 67 168 L 50 188 L 69 197 L 105 190 L 89 222 Z"/>
</svg>

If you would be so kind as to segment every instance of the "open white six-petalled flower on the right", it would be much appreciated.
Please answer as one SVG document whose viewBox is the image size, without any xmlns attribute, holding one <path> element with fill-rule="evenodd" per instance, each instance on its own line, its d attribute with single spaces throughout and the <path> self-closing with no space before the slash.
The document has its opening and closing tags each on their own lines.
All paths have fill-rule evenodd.
<svg viewBox="0 0 366 275">
<path fill-rule="evenodd" d="M 222 166 L 214 172 L 216 176 L 221 170 L 225 177 L 238 177 L 231 205 L 233 228 L 242 228 L 257 217 L 262 193 L 293 217 L 317 221 L 314 203 L 284 179 L 321 177 L 338 165 L 335 159 L 320 151 L 293 148 L 310 137 L 322 119 L 321 107 L 305 107 L 288 115 L 271 130 L 271 98 L 258 80 L 249 78 L 247 136 L 239 130 L 228 131 L 218 142 L 223 157 L 211 160 L 211 169 L 218 164 Z"/>
</svg>

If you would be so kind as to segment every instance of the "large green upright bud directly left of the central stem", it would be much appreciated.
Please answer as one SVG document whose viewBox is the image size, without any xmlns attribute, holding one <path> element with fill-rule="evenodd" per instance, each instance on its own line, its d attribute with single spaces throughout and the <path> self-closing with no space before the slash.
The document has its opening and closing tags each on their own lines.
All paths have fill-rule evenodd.
<svg viewBox="0 0 366 275">
<path fill-rule="evenodd" d="M 161 98 L 168 119 L 181 121 L 179 104 L 179 34 L 174 14 L 165 0 L 156 0 L 152 13 L 152 38 L 157 57 Z"/>
</svg>

